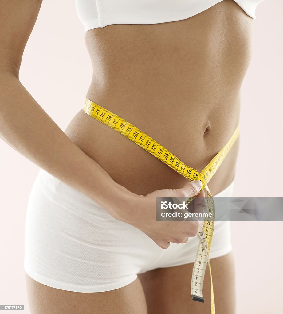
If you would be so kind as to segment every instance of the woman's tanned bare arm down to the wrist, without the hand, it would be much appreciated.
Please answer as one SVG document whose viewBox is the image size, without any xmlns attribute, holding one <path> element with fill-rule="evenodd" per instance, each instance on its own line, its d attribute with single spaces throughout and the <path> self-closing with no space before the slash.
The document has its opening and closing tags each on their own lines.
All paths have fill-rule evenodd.
<svg viewBox="0 0 283 314">
<path fill-rule="evenodd" d="M 51 175 L 115 210 L 131 192 L 79 149 L 19 80 L 22 54 L 40 7 L 37 0 L 0 1 L 0 137 Z"/>
</svg>

